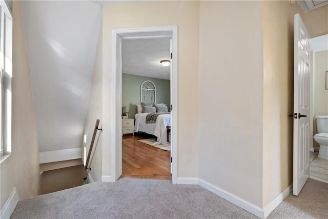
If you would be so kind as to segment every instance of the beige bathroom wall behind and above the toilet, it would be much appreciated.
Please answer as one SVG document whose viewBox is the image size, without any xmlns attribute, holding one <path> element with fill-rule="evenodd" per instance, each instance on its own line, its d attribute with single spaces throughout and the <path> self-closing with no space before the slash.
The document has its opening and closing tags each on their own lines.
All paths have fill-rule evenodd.
<svg viewBox="0 0 328 219">
<path fill-rule="evenodd" d="M 326 71 L 328 71 L 328 50 L 319 51 L 314 54 L 314 100 L 313 114 L 314 124 L 313 133 L 317 133 L 316 115 L 328 115 L 328 90 L 325 89 Z M 314 147 L 319 147 L 319 144 L 313 142 Z"/>
</svg>

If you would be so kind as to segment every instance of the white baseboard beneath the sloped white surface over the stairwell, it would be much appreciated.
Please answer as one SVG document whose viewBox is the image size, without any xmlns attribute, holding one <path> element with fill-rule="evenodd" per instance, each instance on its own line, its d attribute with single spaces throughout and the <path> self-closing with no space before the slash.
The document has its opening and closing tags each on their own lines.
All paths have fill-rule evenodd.
<svg viewBox="0 0 328 219">
<path fill-rule="evenodd" d="M 68 161 L 81 158 L 82 148 L 70 148 L 65 150 L 44 151 L 39 153 L 39 163 L 51 163 L 57 161 Z"/>
</svg>

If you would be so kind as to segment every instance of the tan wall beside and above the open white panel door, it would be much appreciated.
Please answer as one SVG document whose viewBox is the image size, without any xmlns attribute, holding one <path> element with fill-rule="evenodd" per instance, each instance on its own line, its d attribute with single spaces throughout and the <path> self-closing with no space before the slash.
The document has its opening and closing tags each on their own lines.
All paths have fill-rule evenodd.
<svg viewBox="0 0 328 219">
<path fill-rule="evenodd" d="M 327 21 L 327 11 L 318 17 L 317 10 L 304 13 L 288 1 L 263 2 L 263 207 L 293 182 L 293 119 L 288 115 L 293 113 L 294 14 L 313 37 L 328 31 L 320 23 Z"/>
</svg>

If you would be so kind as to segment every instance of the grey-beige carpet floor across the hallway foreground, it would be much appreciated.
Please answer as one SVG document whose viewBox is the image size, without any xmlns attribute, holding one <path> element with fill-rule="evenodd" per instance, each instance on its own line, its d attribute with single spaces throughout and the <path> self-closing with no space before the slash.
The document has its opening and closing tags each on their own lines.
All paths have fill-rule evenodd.
<svg viewBox="0 0 328 219">
<path fill-rule="evenodd" d="M 298 197 L 290 194 L 269 218 L 326 218 L 327 185 L 309 179 Z M 310 199 L 307 197 L 309 192 L 313 193 L 310 194 Z M 115 183 L 95 182 L 19 201 L 11 218 L 256 216 L 197 185 L 173 185 L 166 180 L 121 178 Z"/>
</svg>

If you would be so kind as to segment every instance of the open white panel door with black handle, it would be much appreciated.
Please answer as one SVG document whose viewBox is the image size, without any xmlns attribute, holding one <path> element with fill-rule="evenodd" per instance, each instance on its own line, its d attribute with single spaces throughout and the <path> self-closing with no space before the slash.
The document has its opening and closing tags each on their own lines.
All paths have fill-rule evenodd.
<svg viewBox="0 0 328 219">
<path fill-rule="evenodd" d="M 293 194 L 298 195 L 310 175 L 310 34 L 299 14 L 294 20 L 294 140 Z"/>
</svg>

